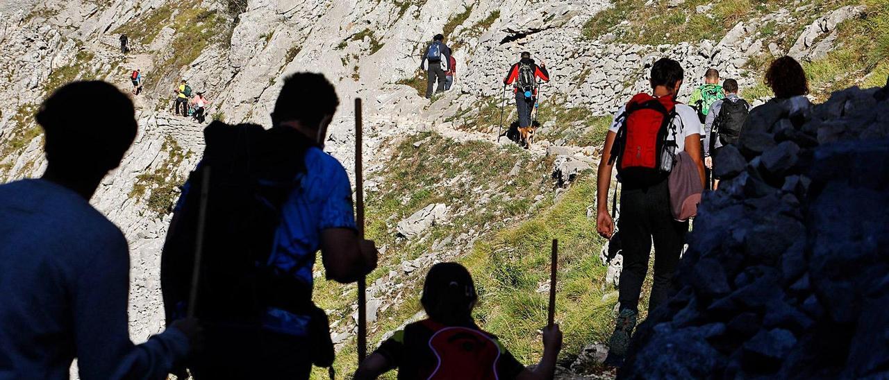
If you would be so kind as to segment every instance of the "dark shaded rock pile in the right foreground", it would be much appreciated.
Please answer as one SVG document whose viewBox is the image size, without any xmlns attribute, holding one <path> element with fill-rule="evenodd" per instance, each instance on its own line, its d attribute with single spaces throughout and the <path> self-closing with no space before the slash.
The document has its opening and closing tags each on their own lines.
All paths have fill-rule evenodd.
<svg viewBox="0 0 889 380">
<path fill-rule="evenodd" d="M 889 101 L 771 101 L 717 158 L 623 378 L 889 376 Z M 802 106 L 802 107 L 801 107 Z"/>
</svg>

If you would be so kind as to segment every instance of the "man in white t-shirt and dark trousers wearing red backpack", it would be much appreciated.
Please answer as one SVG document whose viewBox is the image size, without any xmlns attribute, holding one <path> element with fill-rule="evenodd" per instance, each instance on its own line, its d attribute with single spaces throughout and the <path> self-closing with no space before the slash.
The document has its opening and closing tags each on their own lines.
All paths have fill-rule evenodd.
<svg viewBox="0 0 889 380">
<path fill-rule="evenodd" d="M 675 109 L 676 115 L 672 117 L 671 126 L 668 128 L 666 150 L 671 154 L 678 154 L 685 150 L 691 155 L 698 167 L 701 185 L 703 185 L 701 122 L 692 107 L 676 102 L 684 74 L 677 61 L 673 59 L 658 60 L 652 67 L 652 93 L 639 94 L 628 105 L 637 109 L 638 105 L 645 103 L 646 107 L 649 107 L 649 117 L 656 115 L 651 113 L 651 110 L 657 110 L 657 108 L 664 107 L 664 111 L 661 112 L 669 111 L 670 107 Z M 624 118 L 628 117 L 627 107 L 621 107 L 614 115 L 614 123 L 605 138 L 602 161 L 599 163 L 598 169 L 597 231 L 606 239 L 611 239 L 614 234 L 614 222 L 608 213 L 608 189 L 611 186 L 613 164 L 615 163 L 612 162 L 611 152 L 612 146 L 618 138 L 621 124 Z M 634 142 L 634 144 L 636 143 Z M 654 143 L 651 146 L 654 146 Z M 634 152 L 639 153 L 633 154 L 633 157 L 629 158 L 621 157 L 621 160 L 639 160 L 639 157 L 646 154 L 643 148 Z M 654 155 L 653 153 L 647 154 L 649 157 Z M 654 158 L 650 158 L 650 161 L 654 160 Z M 662 163 L 664 160 L 656 162 Z M 663 176 L 662 179 L 655 177 L 653 182 L 645 183 L 645 185 L 631 183 L 628 179 L 621 178 L 623 186 L 621 189 L 621 218 L 618 226 L 623 254 L 623 270 L 619 285 L 621 312 L 616 321 L 617 326 L 614 329 L 606 359 L 606 364 L 612 366 L 621 365 L 629 346 L 629 337 L 636 327 L 639 295 L 642 283 L 645 281 L 645 273 L 648 270 L 652 241 L 654 242 L 655 259 L 654 281 L 648 306 L 650 311 L 667 300 L 671 279 L 683 249 L 685 233 L 688 232 L 688 222 L 676 221 L 670 212 L 666 176 Z"/>
</svg>

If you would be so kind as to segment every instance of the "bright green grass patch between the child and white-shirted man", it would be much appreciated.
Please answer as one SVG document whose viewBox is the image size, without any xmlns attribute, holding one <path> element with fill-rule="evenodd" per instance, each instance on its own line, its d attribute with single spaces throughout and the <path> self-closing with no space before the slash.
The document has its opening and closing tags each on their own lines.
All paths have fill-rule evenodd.
<svg viewBox="0 0 889 380">
<path fill-rule="evenodd" d="M 605 341 L 613 329 L 616 295 L 598 258 L 604 241 L 586 216 L 595 192 L 595 179 L 581 178 L 555 205 L 477 242 L 461 260 L 479 291 L 476 321 L 526 365 L 542 353 L 537 331 L 546 324 L 548 294 L 537 289 L 549 279 L 551 239 L 559 240 L 556 319 L 565 335 L 563 359 Z"/>
</svg>

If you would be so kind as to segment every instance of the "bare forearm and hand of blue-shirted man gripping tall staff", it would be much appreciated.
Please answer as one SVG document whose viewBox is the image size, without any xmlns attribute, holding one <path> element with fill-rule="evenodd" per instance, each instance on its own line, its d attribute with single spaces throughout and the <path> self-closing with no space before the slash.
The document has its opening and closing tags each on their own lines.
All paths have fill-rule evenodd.
<svg viewBox="0 0 889 380">
<path fill-rule="evenodd" d="M 329 280 L 355 282 L 377 266 L 373 241 L 362 241 L 354 230 L 327 228 L 321 231 L 321 257 Z"/>
</svg>

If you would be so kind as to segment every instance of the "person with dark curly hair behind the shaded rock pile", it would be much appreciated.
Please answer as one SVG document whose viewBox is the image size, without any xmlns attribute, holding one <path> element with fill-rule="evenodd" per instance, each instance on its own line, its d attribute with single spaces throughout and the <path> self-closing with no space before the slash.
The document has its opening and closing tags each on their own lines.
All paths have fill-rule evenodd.
<svg viewBox="0 0 889 380">
<path fill-rule="evenodd" d="M 798 128 L 809 119 L 812 112 L 812 102 L 806 98 L 809 94 L 809 82 L 797 59 L 784 56 L 773 60 L 765 71 L 765 85 L 772 89 L 775 97 L 751 109 L 746 123 L 757 120 L 757 115 L 760 114 L 786 115 L 790 123 Z M 741 131 L 741 136 L 743 134 Z"/>
</svg>

